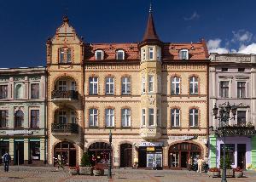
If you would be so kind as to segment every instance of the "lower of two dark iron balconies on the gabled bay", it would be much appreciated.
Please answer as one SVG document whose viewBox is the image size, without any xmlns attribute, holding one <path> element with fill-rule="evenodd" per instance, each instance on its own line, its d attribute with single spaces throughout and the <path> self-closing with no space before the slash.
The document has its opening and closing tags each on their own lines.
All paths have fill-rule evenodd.
<svg viewBox="0 0 256 182">
<path fill-rule="evenodd" d="M 76 123 L 52 123 L 52 134 L 79 134 L 79 125 Z"/>
</svg>

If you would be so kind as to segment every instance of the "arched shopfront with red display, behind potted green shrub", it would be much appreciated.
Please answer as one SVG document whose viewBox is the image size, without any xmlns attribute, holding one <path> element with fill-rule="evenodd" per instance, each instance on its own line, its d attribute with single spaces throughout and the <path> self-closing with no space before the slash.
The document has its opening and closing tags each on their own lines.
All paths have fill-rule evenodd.
<svg viewBox="0 0 256 182">
<path fill-rule="evenodd" d="M 112 147 L 105 142 L 96 142 L 89 146 L 88 152 L 90 155 L 90 162 L 92 166 L 96 166 L 96 165 L 107 166 L 109 163 L 109 154 L 110 152 L 112 152 Z"/>
</svg>

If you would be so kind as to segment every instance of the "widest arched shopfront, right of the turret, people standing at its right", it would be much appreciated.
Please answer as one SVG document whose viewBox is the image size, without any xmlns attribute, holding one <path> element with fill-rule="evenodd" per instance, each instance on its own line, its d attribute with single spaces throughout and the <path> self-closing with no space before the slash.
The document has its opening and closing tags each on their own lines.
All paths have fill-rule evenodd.
<svg viewBox="0 0 256 182">
<path fill-rule="evenodd" d="M 170 146 L 168 154 L 169 168 L 187 168 L 189 157 L 201 156 L 201 147 L 188 142 L 178 143 Z"/>
</svg>

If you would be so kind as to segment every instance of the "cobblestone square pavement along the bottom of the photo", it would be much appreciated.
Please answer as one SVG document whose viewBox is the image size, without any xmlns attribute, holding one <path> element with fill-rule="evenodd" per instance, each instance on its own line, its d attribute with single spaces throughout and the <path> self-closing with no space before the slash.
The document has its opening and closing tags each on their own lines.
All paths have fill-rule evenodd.
<svg viewBox="0 0 256 182">
<path fill-rule="evenodd" d="M 56 171 L 55 168 L 39 167 L 10 167 L 9 173 L 3 172 L 3 166 L 0 171 L 0 181 L 34 181 L 34 182 L 79 182 L 79 181 L 168 181 L 168 182 L 217 182 L 220 178 L 209 178 L 206 173 L 195 173 L 191 171 L 173 171 L 173 170 L 135 170 L 135 169 L 114 169 L 113 179 L 108 176 L 84 176 L 70 175 L 67 169 Z M 245 172 L 244 178 L 228 178 L 228 182 L 255 182 L 256 171 Z"/>
</svg>

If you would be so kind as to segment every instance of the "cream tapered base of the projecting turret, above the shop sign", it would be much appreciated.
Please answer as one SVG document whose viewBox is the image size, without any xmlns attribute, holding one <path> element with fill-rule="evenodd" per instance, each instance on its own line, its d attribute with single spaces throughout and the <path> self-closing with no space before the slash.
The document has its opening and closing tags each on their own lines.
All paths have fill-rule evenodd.
<svg viewBox="0 0 256 182">
<path fill-rule="evenodd" d="M 160 139 L 161 129 L 156 127 L 141 128 L 141 137 L 143 139 Z"/>
</svg>

